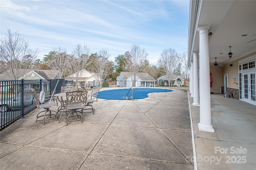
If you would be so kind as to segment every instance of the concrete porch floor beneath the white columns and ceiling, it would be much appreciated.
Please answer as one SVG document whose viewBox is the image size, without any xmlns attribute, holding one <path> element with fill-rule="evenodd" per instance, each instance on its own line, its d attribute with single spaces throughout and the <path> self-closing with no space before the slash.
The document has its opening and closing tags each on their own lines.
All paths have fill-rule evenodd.
<svg viewBox="0 0 256 170">
<path fill-rule="evenodd" d="M 190 98 L 197 168 L 200 170 L 256 169 L 256 106 L 223 94 L 211 94 L 215 132 L 198 130 L 199 107 Z"/>
</svg>

